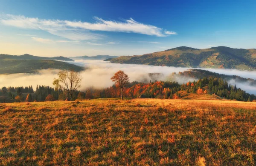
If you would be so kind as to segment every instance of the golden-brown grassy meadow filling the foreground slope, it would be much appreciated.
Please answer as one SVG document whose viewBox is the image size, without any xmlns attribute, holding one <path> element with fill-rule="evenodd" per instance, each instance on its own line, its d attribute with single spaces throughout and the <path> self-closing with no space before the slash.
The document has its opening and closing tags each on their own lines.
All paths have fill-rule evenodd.
<svg viewBox="0 0 256 166">
<path fill-rule="evenodd" d="M 255 165 L 256 103 L 0 104 L 0 165 Z"/>
</svg>

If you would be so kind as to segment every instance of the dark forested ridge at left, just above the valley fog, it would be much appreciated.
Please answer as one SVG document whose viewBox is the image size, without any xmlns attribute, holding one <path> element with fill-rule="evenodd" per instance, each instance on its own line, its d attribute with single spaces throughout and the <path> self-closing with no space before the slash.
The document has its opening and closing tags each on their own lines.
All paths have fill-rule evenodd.
<svg viewBox="0 0 256 166">
<path fill-rule="evenodd" d="M 83 67 L 57 60 L 0 60 L 0 74 L 33 73 L 40 69 L 84 70 Z"/>
</svg>

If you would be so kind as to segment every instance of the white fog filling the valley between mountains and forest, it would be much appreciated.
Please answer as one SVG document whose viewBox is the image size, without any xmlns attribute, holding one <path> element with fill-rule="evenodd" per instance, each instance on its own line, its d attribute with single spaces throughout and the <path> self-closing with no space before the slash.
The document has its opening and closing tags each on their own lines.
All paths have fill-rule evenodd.
<svg viewBox="0 0 256 166">
<path fill-rule="evenodd" d="M 134 64 L 117 64 L 109 63 L 101 60 L 78 60 L 70 62 L 78 66 L 84 66 L 85 71 L 81 72 L 83 77 L 82 86 L 80 90 L 88 88 L 106 88 L 113 85 L 110 80 L 113 73 L 118 70 L 123 70 L 130 77 L 130 81 L 149 82 L 150 80 L 172 80 L 179 83 L 186 83 L 189 80 L 194 80 L 189 77 L 170 76 L 173 72 L 184 72 L 190 68 L 177 68 L 167 66 L 148 66 L 148 65 L 134 65 Z M 256 71 L 247 72 L 236 69 L 205 69 L 211 72 L 229 75 L 239 75 L 245 78 L 256 79 Z M 29 86 L 32 85 L 34 90 L 36 85 L 52 86 L 52 81 L 57 78 L 58 70 L 47 69 L 40 70 L 36 74 L 2 74 L 0 75 L 0 87 L 3 86 Z M 160 73 L 151 74 L 148 73 Z M 237 85 L 237 87 L 245 90 L 248 93 L 256 94 L 256 87 L 250 86 L 250 83 L 239 83 L 237 80 L 230 80 L 229 83 Z"/>
</svg>

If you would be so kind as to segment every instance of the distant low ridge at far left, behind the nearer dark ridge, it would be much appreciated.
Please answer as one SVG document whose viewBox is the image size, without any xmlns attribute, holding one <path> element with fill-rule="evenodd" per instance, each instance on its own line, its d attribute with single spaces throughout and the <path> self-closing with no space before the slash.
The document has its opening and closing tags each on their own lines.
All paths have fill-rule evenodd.
<svg viewBox="0 0 256 166">
<path fill-rule="evenodd" d="M 23 55 L 8 55 L 0 54 L 0 60 L 63 60 L 63 61 L 75 61 L 67 57 L 38 57 L 30 54 Z"/>
</svg>

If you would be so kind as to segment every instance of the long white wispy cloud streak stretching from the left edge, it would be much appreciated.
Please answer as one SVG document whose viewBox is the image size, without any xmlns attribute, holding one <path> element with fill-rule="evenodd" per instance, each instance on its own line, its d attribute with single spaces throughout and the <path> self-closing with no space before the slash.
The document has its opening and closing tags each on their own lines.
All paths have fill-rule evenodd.
<svg viewBox="0 0 256 166">
<path fill-rule="evenodd" d="M 103 20 L 94 17 L 96 22 L 81 22 L 70 20 L 46 20 L 22 15 L 0 14 L 0 23 L 15 26 L 23 29 L 38 29 L 51 34 L 65 37 L 70 40 L 98 40 L 102 35 L 92 31 L 113 31 L 125 33 L 146 34 L 157 37 L 166 37 L 170 34 L 177 34 L 173 31 L 166 31 L 157 26 L 139 23 L 132 18 L 124 21 Z"/>
</svg>

